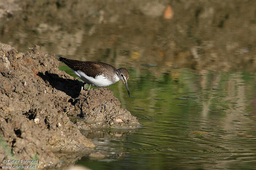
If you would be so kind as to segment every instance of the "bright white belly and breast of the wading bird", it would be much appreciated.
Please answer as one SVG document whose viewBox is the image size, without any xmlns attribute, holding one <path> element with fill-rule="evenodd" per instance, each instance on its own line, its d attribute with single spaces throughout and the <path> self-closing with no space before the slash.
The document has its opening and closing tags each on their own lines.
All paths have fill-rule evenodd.
<svg viewBox="0 0 256 170">
<path fill-rule="evenodd" d="M 84 74 L 84 72 L 82 72 L 80 70 L 75 71 L 72 69 L 72 71 L 79 78 L 81 78 L 84 82 L 86 82 L 87 84 L 91 84 L 92 86 L 96 86 L 96 87 L 106 87 L 106 86 L 114 84 L 120 80 L 117 75 L 115 76 L 115 78 L 116 78 L 115 82 L 112 82 L 108 78 L 104 77 L 104 74 L 100 74 L 100 75 L 96 76 L 95 78 L 93 78 L 93 77 L 87 76 L 86 74 Z"/>
</svg>

